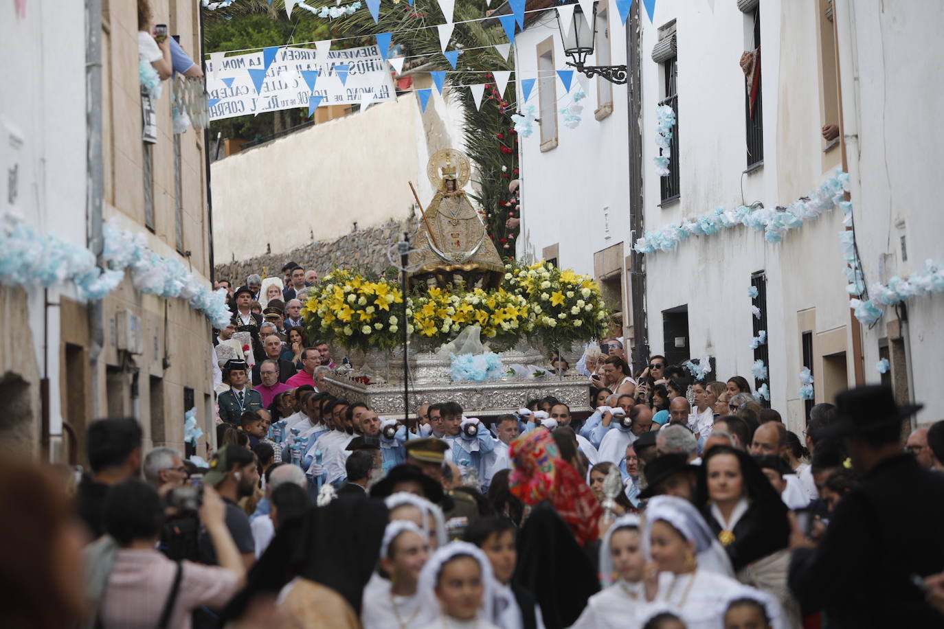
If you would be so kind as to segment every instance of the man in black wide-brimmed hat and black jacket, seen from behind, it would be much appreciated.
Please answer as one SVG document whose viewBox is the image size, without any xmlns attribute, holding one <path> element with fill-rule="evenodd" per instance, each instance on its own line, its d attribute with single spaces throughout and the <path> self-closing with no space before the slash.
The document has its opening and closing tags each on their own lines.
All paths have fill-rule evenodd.
<svg viewBox="0 0 944 629">
<path fill-rule="evenodd" d="M 791 536 L 789 584 L 804 611 L 822 609 L 831 627 L 944 627 L 928 604 L 926 577 L 944 571 L 944 475 L 902 451 L 892 390 L 859 387 L 836 396 L 836 422 L 859 484 L 836 505 L 818 544 Z M 817 452 L 819 448 L 817 448 Z"/>
</svg>

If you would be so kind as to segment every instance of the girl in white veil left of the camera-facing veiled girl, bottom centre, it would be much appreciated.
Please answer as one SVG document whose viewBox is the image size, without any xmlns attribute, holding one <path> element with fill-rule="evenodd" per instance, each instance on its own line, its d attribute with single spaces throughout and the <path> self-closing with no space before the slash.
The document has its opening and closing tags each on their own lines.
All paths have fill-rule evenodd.
<svg viewBox="0 0 944 629">
<path fill-rule="evenodd" d="M 436 618 L 431 592 L 417 588 L 429 557 L 429 537 L 413 521 L 387 524 L 380 545 L 381 580 L 372 579 L 363 595 L 364 629 L 407 629 Z"/>
</svg>

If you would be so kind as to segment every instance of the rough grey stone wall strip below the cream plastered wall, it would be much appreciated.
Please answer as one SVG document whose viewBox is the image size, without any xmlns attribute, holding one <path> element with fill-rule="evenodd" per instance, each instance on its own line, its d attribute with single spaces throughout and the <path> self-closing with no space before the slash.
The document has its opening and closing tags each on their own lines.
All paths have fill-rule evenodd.
<svg viewBox="0 0 944 629">
<path fill-rule="evenodd" d="M 216 278 L 228 279 L 236 288 L 244 284 L 250 273 L 281 277 L 281 269 L 289 260 L 297 262 L 306 270 L 314 269 L 319 276 L 345 265 L 380 273 L 390 266 L 390 260 L 387 259 L 390 246 L 403 240 L 404 231 L 412 238 L 416 226 L 416 219 L 389 221 L 379 227 L 359 229 L 333 240 L 318 240 L 288 252 L 217 264 Z"/>
</svg>

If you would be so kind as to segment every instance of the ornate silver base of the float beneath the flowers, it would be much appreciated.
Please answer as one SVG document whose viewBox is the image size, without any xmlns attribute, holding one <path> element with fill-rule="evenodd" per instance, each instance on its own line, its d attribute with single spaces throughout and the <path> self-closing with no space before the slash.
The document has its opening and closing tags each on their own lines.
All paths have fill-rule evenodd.
<svg viewBox="0 0 944 629">
<path fill-rule="evenodd" d="M 588 382 L 582 375 L 558 376 L 548 369 L 547 359 L 529 347 L 518 346 L 501 353 L 501 362 L 546 369 L 539 376 L 505 376 L 500 380 L 453 382 L 449 377 L 451 361 L 432 353 L 410 351 L 410 413 L 415 419 L 421 404 L 458 402 L 466 417 L 485 419 L 513 413 L 534 398 L 553 395 L 572 409 L 588 404 Z M 403 419 L 403 351 L 363 356 L 370 369 L 355 369 L 347 374 L 331 374 L 325 379 L 329 393 L 351 402 L 363 402 L 385 418 Z M 354 361 L 355 364 L 358 362 Z M 380 367 L 382 366 L 382 367 Z M 507 371 L 507 370 L 506 370 Z M 378 373 L 389 378 L 378 377 Z M 368 379 L 364 384 L 364 378 Z"/>
</svg>

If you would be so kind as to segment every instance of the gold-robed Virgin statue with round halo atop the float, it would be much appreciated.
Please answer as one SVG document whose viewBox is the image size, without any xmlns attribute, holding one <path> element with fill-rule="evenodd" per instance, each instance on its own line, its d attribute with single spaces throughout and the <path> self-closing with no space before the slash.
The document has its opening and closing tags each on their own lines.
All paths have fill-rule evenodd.
<svg viewBox="0 0 944 629">
<path fill-rule="evenodd" d="M 485 225 L 463 190 L 469 180 L 469 159 L 461 151 L 443 149 L 430 157 L 427 167 L 436 189 L 413 238 L 417 252 L 411 265 L 411 283 L 446 287 L 495 288 L 504 264 Z"/>
</svg>

